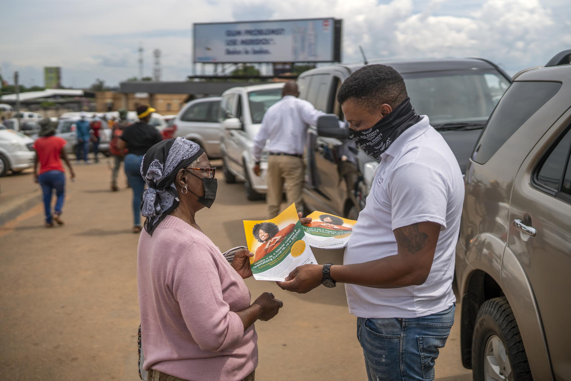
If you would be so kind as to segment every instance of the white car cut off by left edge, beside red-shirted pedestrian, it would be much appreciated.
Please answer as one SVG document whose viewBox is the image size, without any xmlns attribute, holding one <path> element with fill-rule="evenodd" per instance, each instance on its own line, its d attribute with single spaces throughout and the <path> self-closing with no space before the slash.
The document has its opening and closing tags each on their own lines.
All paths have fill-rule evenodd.
<svg viewBox="0 0 571 381">
<path fill-rule="evenodd" d="M 34 166 L 34 139 L 11 129 L 0 129 L 0 177 Z"/>
</svg>

